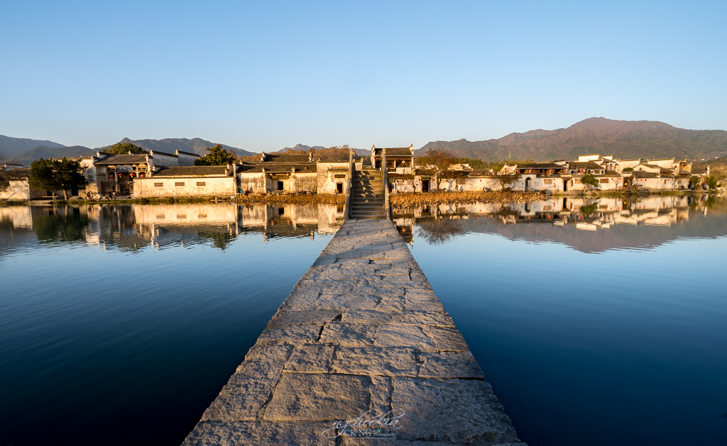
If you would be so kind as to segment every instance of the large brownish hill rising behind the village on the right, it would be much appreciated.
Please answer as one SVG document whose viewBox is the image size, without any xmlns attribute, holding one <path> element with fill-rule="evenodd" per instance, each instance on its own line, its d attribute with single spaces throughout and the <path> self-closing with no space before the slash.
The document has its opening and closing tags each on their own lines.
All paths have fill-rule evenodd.
<svg viewBox="0 0 727 446">
<path fill-rule="evenodd" d="M 519 160 L 572 160 L 587 153 L 622 159 L 675 157 L 700 160 L 727 155 L 727 131 L 678 129 L 656 121 L 589 118 L 567 129 L 531 130 L 487 141 L 429 142 L 417 150 L 417 154 L 430 148 L 484 161 L 503 160 L 508 155 Z"/>
</svg>

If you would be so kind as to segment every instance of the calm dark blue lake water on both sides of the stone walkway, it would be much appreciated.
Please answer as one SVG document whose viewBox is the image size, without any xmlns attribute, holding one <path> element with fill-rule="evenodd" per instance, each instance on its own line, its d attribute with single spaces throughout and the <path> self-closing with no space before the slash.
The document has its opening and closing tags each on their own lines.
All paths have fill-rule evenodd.
<svg viewBox="0 0 727 446">
<path fill-rule="evenodd" d="M 428 206 L 404 239 L 530 445 L 727 444 L 727 200 Z M 336 206 L 0 207 L 0 445 L 178 445 Z"/>
</svg>

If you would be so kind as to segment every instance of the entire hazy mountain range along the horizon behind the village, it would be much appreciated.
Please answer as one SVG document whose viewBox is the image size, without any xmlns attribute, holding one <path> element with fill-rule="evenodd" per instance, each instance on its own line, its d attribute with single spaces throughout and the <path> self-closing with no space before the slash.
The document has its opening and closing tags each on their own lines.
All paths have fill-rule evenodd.
<svg viewBox="0 0 727 446">
<path fill-rule="evenodd" d="M 166 139 L 128 139 L 121 142 L 132 142 L 146 150 L 174 153 L 183 152 L 206 154 L 206 147 L 216 143 L 201 138 L 166 138 Z M 104 150 L 111 145 L 89 149 L 83 146 L 65 147 L 57 142 L 5 137 L 0 135 L 0 150 L 7 162 L 30 165 L 38 158 L 56 156 L 78 156 Z M 238 155 L 254 155 L 229 145 Z M 321 150 L 326 147 L 298 144 L 284 147 L 279 151 L 303 150 L 311 148 Z M 441 148 L 466 158 L 480 158 L 483 161 L 499 161 L 512 159 L 533 159 L 534 161 L 553 161 L 556 159 L 572 160 L 577 155 L 601 153 L 614 155 L 616 158 L 630 159 L 650 158 L 686 158 L 700 161 L 727 155 L 727 131 L 724 130 L 686 130 L 678 129 L 669 124 L 657 121 L 614 121 L 606 118 L 589 118 L 573 124 L 567 129 L 531 130 L 525 133 L 513 133 L 499 139 L 486 141 L 436 141 L 428 142 L 417 150 L 421 154 L 430 148 Z M 369 150 L 354 149 L 359 155 Z"/>
</svg>

